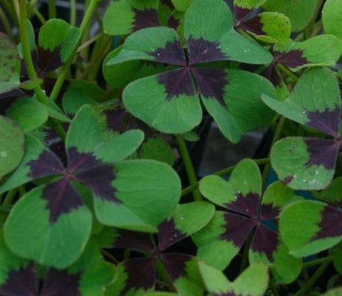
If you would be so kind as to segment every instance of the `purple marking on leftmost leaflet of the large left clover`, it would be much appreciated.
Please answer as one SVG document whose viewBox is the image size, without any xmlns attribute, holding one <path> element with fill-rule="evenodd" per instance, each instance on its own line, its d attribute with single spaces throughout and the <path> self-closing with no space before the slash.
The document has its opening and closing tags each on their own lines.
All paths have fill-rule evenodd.
<svg viewBox="0 0 342 296">
<path fill-rule="evenodd" d="M 27 164 L 30 166 L 29 176 L 33 179 L 61 174 L 64 170 L 61 160 L 58 159 L 56 154 L 47 149 L 39 155 L 38 159 L 31 160 Z"/>
</svg>

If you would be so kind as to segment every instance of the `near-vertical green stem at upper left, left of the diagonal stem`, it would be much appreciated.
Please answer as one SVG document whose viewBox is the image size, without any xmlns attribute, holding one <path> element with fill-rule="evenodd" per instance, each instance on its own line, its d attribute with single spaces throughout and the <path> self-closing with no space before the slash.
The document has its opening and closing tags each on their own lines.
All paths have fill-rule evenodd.
<svg viewBox="0 0 342 296">
<path fill-rule="evenodd" d="M 30 50 L 30 43 L 28 41 L 28 33 L 26 28 L 26 0 L 20 0 L 20 23 L 19 23 L 19 30 L 20 30 L 20 41 L 21 46 L 23 48 L 23 55 L 24 61 L 26 65 L 26 70 L 28 74 L 28 78 L 35 80 L 37 79 L 36 70 L 34 69 L 32 57 L 31 57 L 31 50 Z M 47 104 L 48 99 L 44 95 L 43 90 L 41 90 L 41 86 L 38 85 L 36 88 L 33 89 L 36 97 L 39 101 Z"/>
</svg>

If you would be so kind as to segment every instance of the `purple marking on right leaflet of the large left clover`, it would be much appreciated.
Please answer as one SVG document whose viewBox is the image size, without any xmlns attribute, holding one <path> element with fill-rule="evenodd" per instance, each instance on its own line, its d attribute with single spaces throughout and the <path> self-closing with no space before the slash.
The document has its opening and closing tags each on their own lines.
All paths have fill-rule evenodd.
<svg viewBox="0 0 342 296">
<path fill-rule="evenodd" d="M 115 196 L 116 189 L 111 184 L 115 179 L 113 166 L 109 164 L 98 165 L 81 171 L 74 176 L 74 179 L 90 187 L 100 199 L 120 203 L 120 200 Z"/>
</svg>

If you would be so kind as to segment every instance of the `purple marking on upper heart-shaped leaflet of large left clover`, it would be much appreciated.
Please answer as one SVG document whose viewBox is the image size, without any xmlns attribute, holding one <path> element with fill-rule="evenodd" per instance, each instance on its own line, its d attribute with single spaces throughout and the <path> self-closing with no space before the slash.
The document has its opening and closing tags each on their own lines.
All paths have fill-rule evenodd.
<svg viewBox="0 0 342 296">
<path fill-rule="evenodd" d="M 94 157 L 90 152 L 78 152 L 76 147 L 70 147 L 66 150 L 68 157 L 68 171 L 73 174 L 76 171 L 85 171 L 92 169 L 95 166 L 100 166 L 103 163 Z"/>
</svg>

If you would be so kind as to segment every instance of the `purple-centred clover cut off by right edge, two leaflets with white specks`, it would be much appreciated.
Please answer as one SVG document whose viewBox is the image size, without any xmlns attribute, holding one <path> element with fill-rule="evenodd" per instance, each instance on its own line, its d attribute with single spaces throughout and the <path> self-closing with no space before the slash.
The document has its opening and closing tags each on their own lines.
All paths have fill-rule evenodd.
<svg viewBox="0 0 342 296">
<path fill-rule="evenodd" d="M 267 96 L 263 100 L 281 115 L 334 137 L 289 137 L 277 142 L 271 151 L 271 163 L 279 179 L 292 189 L 328 186 L 340 147 L 341 97 L 333 73 L 324 68 L 310 70 L 284 102 Z"/>
</svg>

